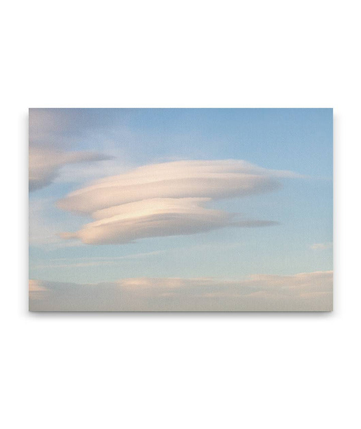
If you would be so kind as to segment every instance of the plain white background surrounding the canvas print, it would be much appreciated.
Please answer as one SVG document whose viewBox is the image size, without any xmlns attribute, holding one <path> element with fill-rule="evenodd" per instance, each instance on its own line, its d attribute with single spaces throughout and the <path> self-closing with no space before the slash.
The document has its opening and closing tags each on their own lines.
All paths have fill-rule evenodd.
<svg viewBox="0 0 361 429">
<path fill-rule="evenodd" d="M 2 6 L 2 427 L 360 427 L 357 6 Z M 28 107 L 333 107 L 334 312 L 28 313 Z"/>
</svg>

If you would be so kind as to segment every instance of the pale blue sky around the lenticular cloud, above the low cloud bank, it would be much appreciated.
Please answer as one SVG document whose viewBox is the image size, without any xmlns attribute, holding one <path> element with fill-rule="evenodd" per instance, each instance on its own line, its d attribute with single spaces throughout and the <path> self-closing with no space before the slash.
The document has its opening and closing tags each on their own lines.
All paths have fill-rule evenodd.
<svg viewBox="0 0 361 429">
<path fill-rule="evenodd" d="M 30 109 L 29 116 L 31 148 L 100 154 L 77 163 L 65 158 L 56 177 L 30 192 L 31 279 L 238 279 L 332 270 L 332 109 Z M 91 222 L 56 204 L 95 179 L 160 162 L 228 159 L 302 176 L 278 179 L 282 186 L 272 192 L 210 203 L 277 225 L 126 244 L 58 236 Z"/>
</svg>

